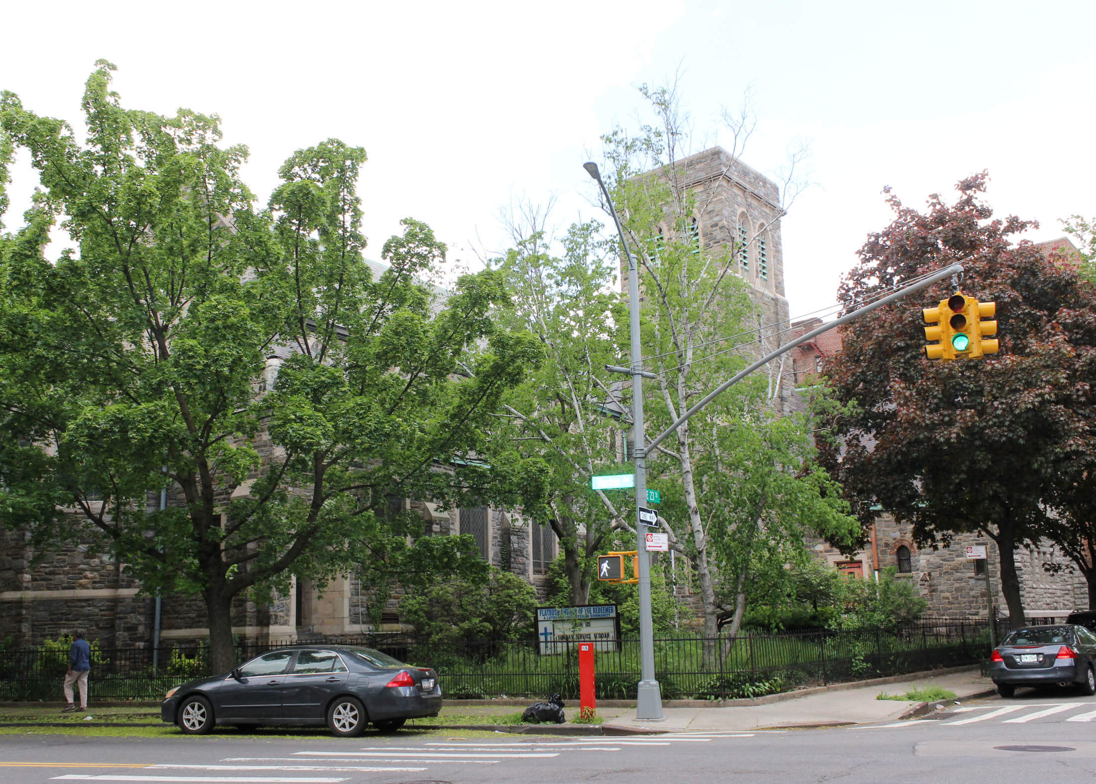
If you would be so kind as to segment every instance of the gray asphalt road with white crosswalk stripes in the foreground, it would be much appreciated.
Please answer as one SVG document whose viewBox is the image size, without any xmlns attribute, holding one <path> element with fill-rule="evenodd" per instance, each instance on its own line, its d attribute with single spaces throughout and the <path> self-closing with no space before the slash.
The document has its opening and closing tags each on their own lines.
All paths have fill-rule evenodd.
<svg viewBox="0 0 1096 784">
<path fill-rule="evenodd" d="M 1096 698 L 1021 692 L 821 730 L 456 738 L 442 731 L 168 739 L 0 736 L 0 784 L 969 782 L 1096 779 Z"/>
</svg>

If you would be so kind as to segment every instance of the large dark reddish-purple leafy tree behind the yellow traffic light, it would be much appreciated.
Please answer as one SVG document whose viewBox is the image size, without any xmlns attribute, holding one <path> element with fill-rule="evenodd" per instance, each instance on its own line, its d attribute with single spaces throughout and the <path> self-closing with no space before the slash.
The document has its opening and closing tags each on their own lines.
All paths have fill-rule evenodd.
<svg viewBox="0 0 1096 784">
<path fill-rule="evenodd" d="M 844 454 L 831 450 L 827 463 L 865 522 L 878 503 L 921 544 L 991 537 L 1009 615 L 1023 622 L 1014 553 L 1051 533 L 1055 498 L 1082 489 L 1071 466 L 1092 466 L 1096 454 L 1096 302 L 1074 271 L 1014 241 L 1032 224 L 993 218 L 985 181 L 961 181 L 955 204 L 931 196 L 924 213 L 890 196 L 893 223 L 868 237 L 840 295 L 852 307 L 961 262 L 959 289 L 996 303 L 1000 353 L 925 359 L 922 307 L 949 296 L 948 284 L 849 323 L 825 375 L 840 400 L 858 406 L 836 419 Z"/>
</svg>

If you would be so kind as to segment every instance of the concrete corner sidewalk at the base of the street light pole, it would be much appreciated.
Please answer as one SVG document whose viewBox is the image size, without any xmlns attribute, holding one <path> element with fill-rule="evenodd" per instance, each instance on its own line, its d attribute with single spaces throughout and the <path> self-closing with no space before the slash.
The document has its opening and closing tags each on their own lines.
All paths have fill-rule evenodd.
<svg viewBox="0 0 1096 784">
<path fill-rule="evenodd" d="M 880 692 L 904 694 L 911 689 L 940 686 L 956 693 L 957 700 L 985 696 L 993 691 L 989 678 L 979 675 L 978 668 L 962 672 L 925 675 L 909 681 L 871 684 L 810 694 L 767 705 L 741 707 L 670 707 L 663 708 L 662 721 L 636 718 L 635 708 L 602 725 L 603 731 L 680 732 L 743 731 L 761 728 L 819 727 L 843 724 L 870 724 L 900 718 L 922 703 L 877 700 Z"/>
</svg>

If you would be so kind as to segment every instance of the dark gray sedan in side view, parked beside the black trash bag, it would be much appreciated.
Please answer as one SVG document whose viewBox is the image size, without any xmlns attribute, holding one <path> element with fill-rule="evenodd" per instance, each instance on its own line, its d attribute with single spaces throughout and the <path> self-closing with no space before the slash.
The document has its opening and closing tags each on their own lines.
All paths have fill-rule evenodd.
<svg viewBox="0 0 1096 784">
<path fill-rule="evenodd" d="M 441 709 L 442 686 L 430 668 L 372 648 L 301 646 L 172 689 L 160 718 L 187 735 L 204 735 L 218 724 L 327 724 L 335 735 L 354 737 L 368 724 L 395 732 L 407 719 Z"/>
</svg>

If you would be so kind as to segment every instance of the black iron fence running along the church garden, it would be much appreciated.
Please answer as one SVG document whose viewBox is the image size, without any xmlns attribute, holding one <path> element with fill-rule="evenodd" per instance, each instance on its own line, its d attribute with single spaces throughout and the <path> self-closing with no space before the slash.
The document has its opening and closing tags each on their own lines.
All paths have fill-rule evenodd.
<svg viewBox="0 0 1096 784">
<path fill-rule="evenodd" d="M 575 646 L 541 654 L 536 641 L 447 641 L 434 645 L 400 635 L 328 637 L 327 644 L 366 645 L 401 661 L 430 666 L 446 696 L 532 697 L 579 692 Z M 242 662 L 292 641 L 243 643 Z M 804 685 L 863 680 L 935 667 L 972 664 L 985 658 L 985 621 L 924 620 L 882 629 L 815 629 L 778 635 L 654 641 L 655 672 L 666 700 L 722 700 L 787 691 Z M 0 649 L 0 701 L 59 700 L 68 666 L 64 649 Z M 639 641 L 621 640 L 596 655 L 601 698 L 632 698 L 639 681 Z M 93 649 L 90 675 L 94 700 L 159 700 L 184 681 L 212 674 L 204 645 Z"/>
</svg>

